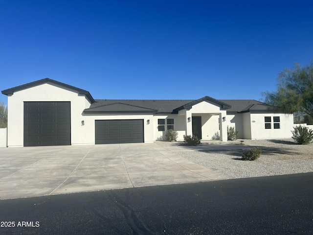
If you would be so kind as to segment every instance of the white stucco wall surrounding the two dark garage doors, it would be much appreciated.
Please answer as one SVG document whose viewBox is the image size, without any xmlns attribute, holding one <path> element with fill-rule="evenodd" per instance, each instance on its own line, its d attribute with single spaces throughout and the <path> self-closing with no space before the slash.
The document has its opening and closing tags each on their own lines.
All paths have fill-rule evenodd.
<svg viewBox="0 0 313 235">
<path fill-rule="evenodd" d="M 144 141 L 153 141 L 153 115 L 84 115 L 90 103 L 85 95 L 54 84 L 41 84 L 8 96 L 8 147 L 23 146 L 24 101 L 70 101 L 71 144 L 95 143 L 95 120 L 144 119 Z M 150 119 L 150 124 L 147 120 Z M 81 122 L 84 120 L 85 125 Z"/>
</svg>

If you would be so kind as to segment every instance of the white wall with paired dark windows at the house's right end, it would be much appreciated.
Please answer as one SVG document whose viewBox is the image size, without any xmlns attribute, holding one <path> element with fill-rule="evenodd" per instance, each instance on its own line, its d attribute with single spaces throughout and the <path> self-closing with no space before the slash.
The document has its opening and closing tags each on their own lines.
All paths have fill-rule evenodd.
<svg viewBox="0 0 313 235">
<path fill-rule="evenodd" d="M 271 117 L 271 129 L 265 129 L 264 117 Z M 274 129 L 273 117 L 280 117 L 280 129 Z M 291 138 L 293 130 L 293 114 L 250 114 L 251 138 L 258 139 L 283 139 Z"/>
</svg>

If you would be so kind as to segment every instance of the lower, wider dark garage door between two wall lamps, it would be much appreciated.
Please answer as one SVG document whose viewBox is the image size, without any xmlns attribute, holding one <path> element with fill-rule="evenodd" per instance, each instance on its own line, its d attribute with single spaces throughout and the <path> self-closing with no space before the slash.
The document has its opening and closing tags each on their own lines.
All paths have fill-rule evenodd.
<svg viewBox="0 0 313 235">
<path fill-rule="evenodd" d="M 143 142 L 143 119 L 95 120 L 95 143 Z"/>
</svg>

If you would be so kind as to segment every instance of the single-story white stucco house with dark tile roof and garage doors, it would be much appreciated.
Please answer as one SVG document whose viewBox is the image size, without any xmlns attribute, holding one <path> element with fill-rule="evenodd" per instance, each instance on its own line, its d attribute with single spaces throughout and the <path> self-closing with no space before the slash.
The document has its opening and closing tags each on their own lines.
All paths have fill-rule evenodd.
<svg viewBox="0 0 313 235">
<path fill-rule="evenodd" d="M 8 96 L 7 146 L 153 142 L 175 129 L 211 140 L 227 126 L 241 139 L 291 138 L 293 115 L 256 100 L 93 99 L 49 78 L 2 91 Z"/>
</svg>

